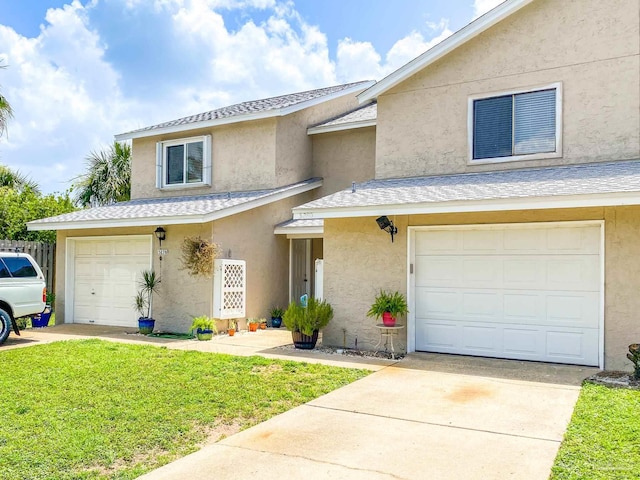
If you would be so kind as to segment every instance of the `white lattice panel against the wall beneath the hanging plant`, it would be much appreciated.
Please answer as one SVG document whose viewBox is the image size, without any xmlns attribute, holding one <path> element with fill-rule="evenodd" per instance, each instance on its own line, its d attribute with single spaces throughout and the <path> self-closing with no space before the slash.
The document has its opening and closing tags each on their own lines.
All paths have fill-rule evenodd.
<svg viewBox="0 0 640 480">
<path fill-rule="evenodd" d="M 216 260 L 213 271 L 213 317 L 244 317 L 246 285 L 247 265 L 244 260 Z"/>
</svg>

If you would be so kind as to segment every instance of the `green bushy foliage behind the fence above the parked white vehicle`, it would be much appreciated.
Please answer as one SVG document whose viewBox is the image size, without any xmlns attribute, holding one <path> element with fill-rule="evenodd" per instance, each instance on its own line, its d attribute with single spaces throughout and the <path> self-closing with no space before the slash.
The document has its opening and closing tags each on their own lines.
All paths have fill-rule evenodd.
<svg viewBox="0 0 640 480">
<path fill-rule="evenodd" d="M 27 231 L 26 223 L 75 210 L 69 193 L 41 195 L 30 188 L 0 187 L 0 238 L 53 243 L 55 231 Z"/>
</svg>

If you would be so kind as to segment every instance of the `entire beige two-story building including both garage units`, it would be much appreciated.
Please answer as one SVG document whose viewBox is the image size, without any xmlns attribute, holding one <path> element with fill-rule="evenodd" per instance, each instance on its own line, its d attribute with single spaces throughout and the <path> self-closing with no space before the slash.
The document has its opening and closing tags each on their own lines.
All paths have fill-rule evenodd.
<svg viewBox="0 0 640 480">
<path fill-rule="evenodd" d="M 62 318 L 133 321 L 133 286 L 88 290 L 129 256 L 132 282 L 142 266 L 161 271 L 157 317 L 184 330 L 212 311 L 211 282 L 176 255 L 200 234 L 246 260 L 247 316 L 313 294 L 323 259 L 336 314 L 325 344 L 373 347 L 366 312 L 387 289 L 408 297 L 408 351 L 628 370 L 640 338 L 639 25 L 637 0 L 507 0 L 376 84 L 117 136 L 133 140 L 133 200 L 30 224 L 58 229 Z M 192 149 L 203 153 L 190 164 Z M 90 304 L 106 310 L 90 317 Z"/>
</svg>

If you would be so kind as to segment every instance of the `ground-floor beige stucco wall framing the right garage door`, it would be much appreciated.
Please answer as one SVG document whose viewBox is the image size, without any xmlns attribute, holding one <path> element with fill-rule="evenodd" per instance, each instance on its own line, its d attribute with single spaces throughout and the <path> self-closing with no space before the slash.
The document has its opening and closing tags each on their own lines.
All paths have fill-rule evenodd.
<svg viewBox="0 0 640 480">
<path fill-rule="evenodd" d="M 356 338 L 363 349 L 378 341 L 375 322 L 366 312 L 378 289 L 407 293 L 408 226 L 604 220 L 604 366 L 631 369 L 627 346 L 640 341 L 640 207 L 398 215 L 392 220 L 399 230 L 394 243 L 378 229 L 375 217 L 325 220 L 324 293 L 335 311 L 324 332 L 325 344 L 342 346 L 345 332 L 348 347 Z"/>
</svg>

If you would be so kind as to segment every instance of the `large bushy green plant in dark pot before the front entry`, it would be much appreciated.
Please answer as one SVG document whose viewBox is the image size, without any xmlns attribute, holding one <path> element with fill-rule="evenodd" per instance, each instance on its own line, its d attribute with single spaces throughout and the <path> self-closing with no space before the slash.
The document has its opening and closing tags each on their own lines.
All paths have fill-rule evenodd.
<svg viewBox="0 0 640 480">
<path fill-rule="evenodd" d="M 292 302 L 284 312 L 282 321 L 291 330 L 294 346 L 311 350 L 318 341 L 318 332 L 326 327 L 332 318 L 333 308 L 329 303 L 309 298 L 306 307 Z"/>
</svg>

